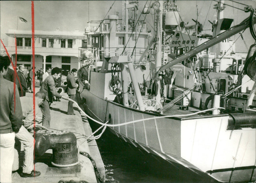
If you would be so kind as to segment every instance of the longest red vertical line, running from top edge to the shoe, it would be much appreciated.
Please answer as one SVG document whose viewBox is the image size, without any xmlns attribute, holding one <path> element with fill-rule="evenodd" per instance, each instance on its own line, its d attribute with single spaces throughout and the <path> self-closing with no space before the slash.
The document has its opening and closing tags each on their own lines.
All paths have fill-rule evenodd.
<svg viewBox="0 0 256 183">
<path fill-rule="evenodd" d="M 32 17 L 32 63 L 33 63 L 33 114 L 34 114 L 34 160 L 35 160 L 35 138 L 36 138 L 36 99 L 35 99 L 35 15 L 34 1 L 31 1 L 31 17 Z M 35 162 L 35 161 L 34 161 Z M 34 163 L 34 171 L 35 163 Z"/>
</svg>

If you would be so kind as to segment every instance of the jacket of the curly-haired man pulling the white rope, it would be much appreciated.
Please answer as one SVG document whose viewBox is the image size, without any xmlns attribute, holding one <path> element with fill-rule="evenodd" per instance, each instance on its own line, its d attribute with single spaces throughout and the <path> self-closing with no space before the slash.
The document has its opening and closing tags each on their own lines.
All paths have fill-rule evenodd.
<svg viewBox="0 0 256 183">
<path fill-rule="evenodd" d="M 57 92 L 55 86 L 56 86 L 55 80 L 54 80 L 53 76 L 50 75 L 44 80 L 42 87 L 40 88 L 40 92 L 45 93 L 45 95 L 46 95 L 45 99 L 48 102 L 52 103 L 53 95 L 58 98 L 61 98 L 61 95 Z"/>
</svg>

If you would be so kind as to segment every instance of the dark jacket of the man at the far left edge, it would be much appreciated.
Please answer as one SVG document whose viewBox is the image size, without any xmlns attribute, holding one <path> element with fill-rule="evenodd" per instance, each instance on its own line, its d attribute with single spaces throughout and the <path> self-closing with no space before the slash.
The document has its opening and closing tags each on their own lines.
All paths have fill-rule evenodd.
<svg viewBox="0 0 256 183">
<path fill-rule="evenodd" d="M 0 133 L 18 132 L 22 125 L 22 108 L 17 85 L 14 96 L 13 82 L 0 75 L 0 84 Z"/>
</svg>

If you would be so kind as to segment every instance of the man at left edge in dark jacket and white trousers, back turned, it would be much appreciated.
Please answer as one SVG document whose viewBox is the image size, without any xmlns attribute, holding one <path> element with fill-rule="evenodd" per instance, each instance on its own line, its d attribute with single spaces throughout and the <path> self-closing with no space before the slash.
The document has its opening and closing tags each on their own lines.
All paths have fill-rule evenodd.
<svg viewBox="0 0 256 183">
<path fill-rule="evenodd" d="M 4 79 L 10 60 L 0 56 L 0 182 L 12 182 L 14 138 L 22 125 L 22 108 L 18 88 Z"/>
</svg>

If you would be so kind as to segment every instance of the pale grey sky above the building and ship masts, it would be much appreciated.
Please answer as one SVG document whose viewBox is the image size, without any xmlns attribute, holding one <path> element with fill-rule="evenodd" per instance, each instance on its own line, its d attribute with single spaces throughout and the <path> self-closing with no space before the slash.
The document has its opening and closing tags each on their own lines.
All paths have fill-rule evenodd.
<svg viewBox="0 0 256 183">
<path fill-rule="evenodd" d="M 115 2 L 115 3 L 114 3 Z M 129 1 L 132 2 L 132 1 Z M 154 1 L 139 1 L 139 12 L 142 11 L 145 3 L 151 4 Z M 256 8 L 255 0 L 236 0 L 225 1 L 226 4 L 234 6 L 236 8 L 244 9 L 244 5 L 236 2 L 252 5 Z M 110 6 L 114 3 L 112 8 Z M 199 17 L 198 21 L 204 25 L 204 30 L 211 29 L 211 24 L 208 20 L 213 21 L 216 19 L 216 10 L 213 9 L 213 5 L 217 4 L 215 1 L 196 1 L 196 0 L 178 0 L 176 1 L 178 8 L 180 9 L 180 17 L 185 23 L 189 22 L 189 25 L 194 24 L 192 19 L 196 19 L 196 5 L 198 7 Z M 35 30 L 54 31 L 59 28 L 60 31 L 84 31 L 88 26 L 88 21 L 101 20 L 108 15 L 116 14 L 116 11 L 120 12 L 119 18 L 122 18 L 122 1 L 34 1 L 35 9 Z M 225 18 L 232 18 L 234 22 L 232 26 L 240 23 L 245 18 L 249 17 L 249 13 L 238 10 L 233 7 L 226 6 L 224 11 Z M 26 19 L 28 23 L 17 23 L 18 16 Z M 140 17 L 144 19 L 145 15 Z M 148 14 L 146 17 L 148 23 L 148 29 L 153 29 L 153 16 Z M 204 23 L 205 22 L 205 23 Z M 9 29 L 17 30 L 31 30 L 31 1 L 0 1 L 0 37 L 4 44 L 8 45 L 8 33 Z M 211 34 L 211 31 L 205 33 Z M 249 28 L 243 33 L 244 40 L 248 47 L 254 43 Z M 232 37 L 233 40 L 238 37 Z M 1 49 L 3 45 L 1 44 Z M 247 52 L 241 37 L 236 42 L 236 52 Z"/>
</svg>

